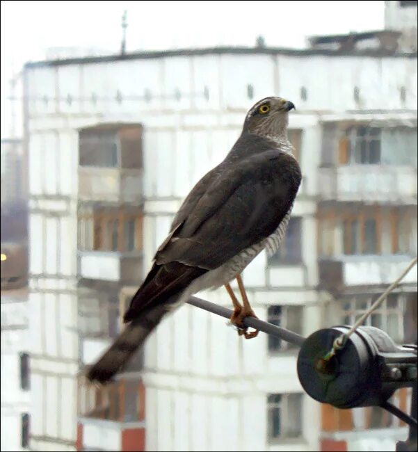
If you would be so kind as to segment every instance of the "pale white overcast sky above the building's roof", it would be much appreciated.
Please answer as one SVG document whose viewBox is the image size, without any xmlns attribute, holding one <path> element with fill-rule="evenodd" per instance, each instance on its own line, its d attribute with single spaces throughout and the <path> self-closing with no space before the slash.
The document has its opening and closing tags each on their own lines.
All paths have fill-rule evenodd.
<svg viewBox="0 0 418 452">
<path fill-rule="evenodd" d="M 384 25 L 384 1 L 1 1 L 2 99 L 12 71 L 45 59 L 47 47 L 118 52 L 124 9 L 128 52 L 252 46 L 258 35 L 266 45 L 305 47 L 309 35 Z"/>
</svg>

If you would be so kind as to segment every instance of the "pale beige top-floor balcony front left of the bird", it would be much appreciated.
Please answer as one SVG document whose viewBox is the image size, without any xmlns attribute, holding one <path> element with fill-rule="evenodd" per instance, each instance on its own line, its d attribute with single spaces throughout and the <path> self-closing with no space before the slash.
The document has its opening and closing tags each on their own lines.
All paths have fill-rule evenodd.
<svg viewBox="0 0 418 452">
<path fill-rule="evenodd" d="M 79 166 L 79 199 L 140 204 L 143 200 L 142 170 Z"/>
</svg>

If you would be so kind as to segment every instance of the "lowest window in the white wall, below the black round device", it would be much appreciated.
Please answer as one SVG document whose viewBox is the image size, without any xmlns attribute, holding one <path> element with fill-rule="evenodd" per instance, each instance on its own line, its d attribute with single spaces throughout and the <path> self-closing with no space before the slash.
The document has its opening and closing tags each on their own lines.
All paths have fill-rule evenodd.
<svg viewBox="0 0 418 452">
<path fill-rule="evenodd" d="M 269 442 L 302 435 L 302 394 L 270 394 L 267 411 Z"/>
</svg>

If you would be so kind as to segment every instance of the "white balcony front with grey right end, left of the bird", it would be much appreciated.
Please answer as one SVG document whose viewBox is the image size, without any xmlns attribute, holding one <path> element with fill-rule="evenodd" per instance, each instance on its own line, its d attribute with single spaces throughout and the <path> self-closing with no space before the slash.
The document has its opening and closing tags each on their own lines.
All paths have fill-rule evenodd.
<svg viewBox="0 0 418 452">
<path fill-rule="evenodd" d="M 88 280 L 136 284 L 142 274 L 142 252 L 79 251 L 79 275 Z"/>
</svg>

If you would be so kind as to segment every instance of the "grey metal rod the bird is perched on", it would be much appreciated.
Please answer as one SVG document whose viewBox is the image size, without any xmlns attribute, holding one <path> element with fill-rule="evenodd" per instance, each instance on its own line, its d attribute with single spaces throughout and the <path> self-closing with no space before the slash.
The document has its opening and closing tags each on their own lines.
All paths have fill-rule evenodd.
<svg viewBox="0 0 418 452">
<path fill-rule="evenodd" d="M 212 314 L 216 314 L 221 317 L 231 318 L 233 311 L 232 309 L 228 309 L 227 307 L 215 305 L 207 300 L 202 300 L 202 298 L 191 297 L 188 300 L 188 304 L 200 307 L 200 309 L 204 309 L 205 311 L 209 311 Z M 254 317 L 244 317 L 243 324 L 250 328 L 255 328 L 255 330 L 259 330 L 265 332 L 266 334 L 270 334 L 271 336 L 279 337 L 284 341 L 290 342 L 290 344 L 294 344 L 300 347 L 305 338 L 297 334 L 296 332 L 286 330 L 286 328 L 281 328 L 280 326 L 272 325 L 271 323 L 264 322 L 259 318 Z"/>
</svg>

